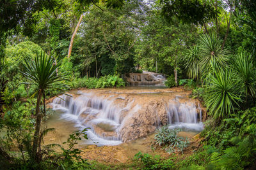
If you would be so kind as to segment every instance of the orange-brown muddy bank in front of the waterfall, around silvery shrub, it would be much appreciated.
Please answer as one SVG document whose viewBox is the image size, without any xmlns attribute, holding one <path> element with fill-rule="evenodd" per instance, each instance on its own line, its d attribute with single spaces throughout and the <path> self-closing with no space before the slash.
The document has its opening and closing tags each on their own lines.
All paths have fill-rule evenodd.
<svg viewBox="0 0 256 170">
<path fill-rule="evenodd" d="M 146 138 L 136 139 L 127 143 L 122 143 L 118 146 L 96 146 L 90 145 L 83 148 L 81 156 L 83 159 L 96 160 L 104 164 L 127 164 L 132 163 L 133 157 L 136 153 L 149 153 L 150 155 L 161 155 L 162 159 L 168 159 L 169 157 L 177 157 L 177 159 L 184 159 L 193 153 L 193 150 L 198 146 L 198 139 L 194 139 L 195 133 L 180 132 L 179 136 L 189 138 L 190 144 L 188 148 L 184 150 L 184 153 L 166 153 L 163 148 L 154 145 L 155 149 L 152 149 L 152 142 L 154 141 L 154 135 L 150 134 Z"/>
</svg>

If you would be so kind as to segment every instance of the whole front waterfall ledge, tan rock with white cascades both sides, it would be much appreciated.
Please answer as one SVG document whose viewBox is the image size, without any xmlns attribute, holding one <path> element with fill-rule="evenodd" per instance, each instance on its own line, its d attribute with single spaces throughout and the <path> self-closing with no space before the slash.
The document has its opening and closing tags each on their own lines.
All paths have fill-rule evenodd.
<svg viewBox="0 0 256 170">
<path fill-rule="evenodd" d="M 98 89 L 56 97 L 51 105 L 62 112 L 61 119 L 79 129 L 90 127 L 88 137 L 97 145 L 118 145 L 166 124 L 201 131 L 200 107 L 194 103 L 180 90 Z"/>
</svg>

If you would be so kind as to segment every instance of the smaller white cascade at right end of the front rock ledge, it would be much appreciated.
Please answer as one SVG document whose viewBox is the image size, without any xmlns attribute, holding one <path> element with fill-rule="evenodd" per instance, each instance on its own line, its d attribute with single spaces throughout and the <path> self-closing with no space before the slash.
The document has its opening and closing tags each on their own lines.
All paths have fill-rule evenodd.
<svg viewBox="0 0 256 170">
<path fill-rule="evenodd" d="M 169 128 L 182 128 L 186 131 L 202 131 L 202 111 L 193 103 L 179 103 L 172 101 L 166 107 Z M 199 113 L 199 114 L 198 114 Z M 198 120 L 199 116 L 199 120 Z"/>
</svg>

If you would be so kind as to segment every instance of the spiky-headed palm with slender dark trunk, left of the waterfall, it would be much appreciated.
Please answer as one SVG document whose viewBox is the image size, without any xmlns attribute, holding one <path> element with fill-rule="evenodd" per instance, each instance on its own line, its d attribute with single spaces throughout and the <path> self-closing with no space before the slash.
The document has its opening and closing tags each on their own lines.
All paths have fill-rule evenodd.
<svg viewBox="0 0 256 170">
<path fill-rule="evenodd" d="M 65 87 L 65 84 L 60 83 L 65 79 L 64 75 L 58 74 L 57 69 L 60 67 L 61 62 L 54 64 L 54 59 L 51 56 L 45 55 L 44 52 L 41 52 L 40 55 L 36 55 L 35 59 L 31 62 L 25 61 L 24 72 L 22 74 L 28 78 L 29 83 L 34 85 L 37 92 L 37 101 L 36 101 L 36 125 L 35 125 L 35 134 L 33 136 L 33 146 L 31 158 L 36 161 L 36 153 L 39 145 L 39 136 L 40 136 L 40 126 L 42 113 L 40 112 L 40 103 L 42 97 L 45 96 L 45 90 L 55 87 Z"/>
</svg>

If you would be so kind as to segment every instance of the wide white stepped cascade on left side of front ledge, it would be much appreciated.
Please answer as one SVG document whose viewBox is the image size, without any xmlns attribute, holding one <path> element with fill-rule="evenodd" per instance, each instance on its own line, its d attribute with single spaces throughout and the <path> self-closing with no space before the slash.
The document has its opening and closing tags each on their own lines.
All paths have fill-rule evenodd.
<svg viewBox="0 0 256 170">
<path fill-rule="evenodd" d="M 123 115 L 129 108 L 118 108 L 113 101 L 92 94 L 82 94 L 76 98 L 62 95 L 52 101 L 52 107 L 64 111 L 61 118 L 76 122 L 77 127 L 90 127 L 88 136 L 92 141 L 99 142 L 98 145 L 122 143 L 118 131 Z"/>
</svg>

